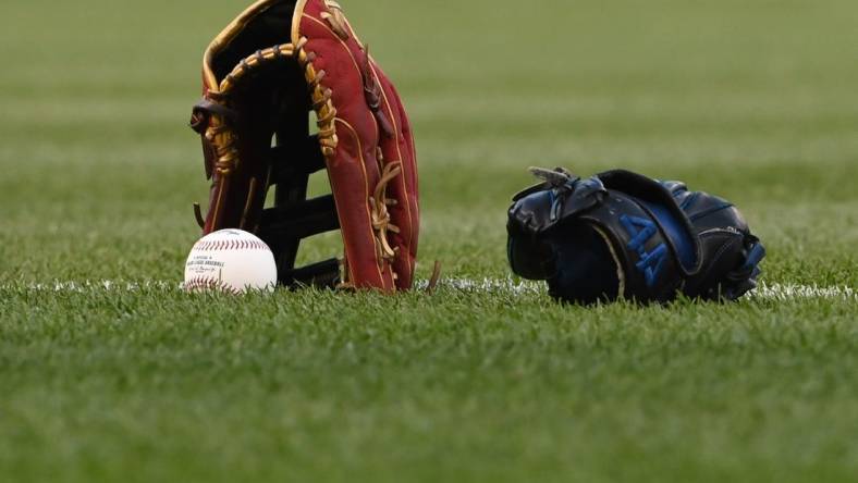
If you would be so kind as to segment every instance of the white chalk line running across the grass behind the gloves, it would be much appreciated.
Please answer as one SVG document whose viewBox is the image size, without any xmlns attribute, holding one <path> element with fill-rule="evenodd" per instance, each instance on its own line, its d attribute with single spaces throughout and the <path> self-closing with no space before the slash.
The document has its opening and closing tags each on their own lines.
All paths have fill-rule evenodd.
<svg viewBox="0 0 858 483">
<path fill-rule="evenodd" d="M 419 289 L 426 288 L 428 282 L 417 281 L 415 286 Z M 440 288 L 450 288 L 474 294 L 498 294 L 498 295 L 539 295 L 546 292 L 546 285 L 541 282 L 516 281 L 513 278 L 442 278 L 439 283 Z M 27 289 L 33 292 L 54 292 L 54 293 L 95 293 L 95 292 L 139 292 L 139 290 L 160 290 L 180 292 L 182 283 L 171 281 L 54 281 L 46 283 L 30 284 L 5 284 L 0 285 L 3 290 Z M 848 286 L 818 286 L 801 284 L 783 283 L 761 283 L 755 290 L 748 294 L 752 299 L 763 300 L 858 300 L 858 290 Z"/>
</svg>

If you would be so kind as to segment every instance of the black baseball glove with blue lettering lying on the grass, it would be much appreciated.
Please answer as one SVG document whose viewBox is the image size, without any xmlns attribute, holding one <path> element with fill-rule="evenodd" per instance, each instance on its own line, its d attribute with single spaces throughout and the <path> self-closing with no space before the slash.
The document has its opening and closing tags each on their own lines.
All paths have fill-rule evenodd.
<svg viewBox="0 0 858 483">
<path fill-rule="evenodd" d="M 553 297 L 735 300 L 757 285 L 765 249 L 732 203 L 623 170 L 532 172 L 544 183 L 513 199 L 507 255 Z"/>
</svg>

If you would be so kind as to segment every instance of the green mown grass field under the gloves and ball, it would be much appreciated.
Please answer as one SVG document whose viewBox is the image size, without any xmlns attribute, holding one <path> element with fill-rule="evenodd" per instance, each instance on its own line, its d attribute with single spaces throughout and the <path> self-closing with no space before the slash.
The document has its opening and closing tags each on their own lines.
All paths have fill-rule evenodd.
<svg viewBox="0 0 858 483">
<path fill-rule="evenodd" d="M 526 166 L 625 166 L 735 201 L 774 296 L 185 295 L 244 2 L 7 2 L 0 481 L 855 481 L 858 3 L 343 3 L 415 124 L 421 278 L 508 276 Z"/>
</svg>

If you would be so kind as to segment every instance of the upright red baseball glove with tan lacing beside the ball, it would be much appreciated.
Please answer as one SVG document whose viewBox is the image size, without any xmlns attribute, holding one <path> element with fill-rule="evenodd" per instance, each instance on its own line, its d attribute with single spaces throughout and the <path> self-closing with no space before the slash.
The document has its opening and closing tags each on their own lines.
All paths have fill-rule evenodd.
<svg viewBox="0 0 858 483">
<path fill-rule="evenodd" d="M 283 285 L 412 286 L 419 208 L 408 117 L 335 1 L 260 0 L 235 18 L 206 50 L 191 126 L 211 179 L 208 213 L 196 206 L 204 234 L 255 233 Z M 321 170 L 332 195 L 307 199 Z M 343 259 L 295 268 L 302 239 L 335 230 Z"/>
</svg>

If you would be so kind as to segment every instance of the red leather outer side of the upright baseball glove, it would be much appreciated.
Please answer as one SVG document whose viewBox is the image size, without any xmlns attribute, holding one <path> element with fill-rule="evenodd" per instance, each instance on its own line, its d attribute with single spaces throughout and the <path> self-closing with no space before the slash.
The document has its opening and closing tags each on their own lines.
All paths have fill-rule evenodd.
<svg viewBox="0 0 858 483">
<path fill-rule="evenodd" d="M 351 280 L 358 286 L 384 290 L 408 288 L 414 277 L 419 232 L 417 169 L 410 125 L 396 90 L 376 62 L 369 60 L 368 73 L 361 69 L 368 53 L 351 25 L 344 25 L 347 38 L 343 39 L 322 17 L 323 13 L 331 14 L 323 1 L 307 1 L 292 41 L 296 44 L 301 37 L 307 38 L 305 49 L 316 54 L 314 65 L 327 74 L 321 84 L 333 92 L 331 100 L 338 113 L 339 144 L 335 154 L 328 160 L 328 173 L 336 199 Z M 373 77 L 382 89 L 380 110 L 392 124 L 392 137 L 381 133 L 377 117 L 367 109 L 365 75 Z M 390 214 L 400 233 L 392 234 L 389 242 L 399 248 L 399 256 L 389 264 L 376 253 L 371 208 L 367 200 L 381 179 L 380 166 L 396 161 L 402 163 L 403 171 L 389 185 L 389 193 L 397 200 L 396 206 L 390 207 Z M 394 272 L 397 274 L 395 281 Z"/>
</svg>

